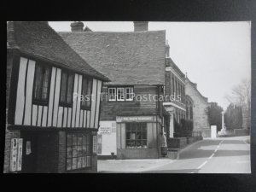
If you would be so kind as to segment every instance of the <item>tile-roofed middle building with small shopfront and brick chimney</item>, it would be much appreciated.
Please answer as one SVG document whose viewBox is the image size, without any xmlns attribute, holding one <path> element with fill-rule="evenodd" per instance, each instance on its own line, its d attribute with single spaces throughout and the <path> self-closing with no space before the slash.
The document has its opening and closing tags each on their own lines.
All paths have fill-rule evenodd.
<svg viewBox="0 0 256 192">
<path fill-rule="evenodd" d="M 160 157 L 164 125 L 165 31 L 61 32 L 61 37 L 111 82 L 102 87 L 98 154 L 118 159 Z M 82 29 L 82 31 L 84 31 Z M 149 98 L 151 97 L 151 98 Z"/>
</svg>

